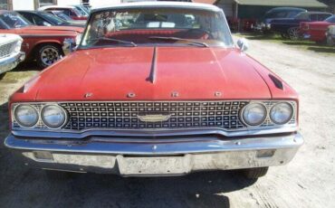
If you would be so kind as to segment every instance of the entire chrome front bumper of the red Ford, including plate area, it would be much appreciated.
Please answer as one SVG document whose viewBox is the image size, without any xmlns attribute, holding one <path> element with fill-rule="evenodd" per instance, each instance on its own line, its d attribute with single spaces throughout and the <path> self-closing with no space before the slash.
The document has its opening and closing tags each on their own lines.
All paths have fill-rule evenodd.
<svg viewBox="0 0 335 208">
<path fill-rule="evenodd" d="M 91 137 L 82 141 L 24 139 L 9 135 L 5 146 L 24 156 L 24 164 L 44 169 L 117 175 L 186 175 L 284 165 L 303 144 L 299 133 L 271 137 L 219 136 L 146 140 Z"/>
</svg>

